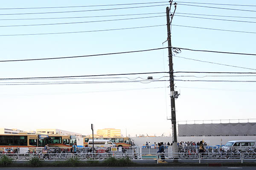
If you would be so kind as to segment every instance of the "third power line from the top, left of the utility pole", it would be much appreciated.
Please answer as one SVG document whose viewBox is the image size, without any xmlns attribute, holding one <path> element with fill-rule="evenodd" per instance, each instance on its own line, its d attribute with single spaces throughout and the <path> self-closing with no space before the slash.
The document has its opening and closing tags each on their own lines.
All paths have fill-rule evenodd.
<svg viewBox="0 0 256 170">
<path fill-rule="evenodd" d="M 14 18 L 14 19 L 0 19 L 0 20 L 51 20 L 51 19 L 72 19 L 72 18 L 93 18 L 93 17 L 122 17 L 122 16 L 150 15 L 150 14 L 165 14 L 165 12 L 142 13 L 142 14 L 122 14 L 122 15 L 102 15 L 102 16 L 83 16 L 83 17 Z"/>
</svg>

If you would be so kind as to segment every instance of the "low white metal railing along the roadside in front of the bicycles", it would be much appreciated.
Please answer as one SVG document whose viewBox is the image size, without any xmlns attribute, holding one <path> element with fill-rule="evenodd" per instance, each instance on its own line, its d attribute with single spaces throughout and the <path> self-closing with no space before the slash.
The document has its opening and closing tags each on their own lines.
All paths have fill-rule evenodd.
<svg viewBox="0 0 256 170">
<path fill-rule="evenodd" d="M 79 160 L 105 160 L 110 157 L 129 158 L 131 160 L 156 160 L 175 161 L 175 160 L 194 160 L 201 163 L 203 160 L 237 160 L 243 163 L 245 160 L 256 161 L 256 153 L 1 153 L 0 158 L 7 156 L 14 160 L 31 160 L 38 158 L 40 160 L 68 160 L 77 158 Z"/>
</svg>

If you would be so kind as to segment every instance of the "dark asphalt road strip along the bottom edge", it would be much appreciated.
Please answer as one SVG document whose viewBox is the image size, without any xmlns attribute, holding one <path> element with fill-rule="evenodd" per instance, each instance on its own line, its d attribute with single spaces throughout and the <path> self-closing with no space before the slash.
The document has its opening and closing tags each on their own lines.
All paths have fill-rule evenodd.
<svg viewBox="0 0 256 170">
<path fill-rule="evenodd" d="M 255 170 L 256 167 L 6 167 L 0 170 Z"/>
</svg>

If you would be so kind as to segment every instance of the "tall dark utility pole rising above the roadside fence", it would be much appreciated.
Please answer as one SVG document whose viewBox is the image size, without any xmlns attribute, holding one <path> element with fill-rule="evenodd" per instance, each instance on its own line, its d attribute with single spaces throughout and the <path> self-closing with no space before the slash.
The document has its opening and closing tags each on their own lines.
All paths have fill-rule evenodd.
<svg viewBox="0 0 256 170">
<path fill-rule="evenodd" d="M 176 7 L 175 7 L 176 8 Z M 166 7 L 167 17 L 167 40 L 168 40 L 168 57 L 169 57 L 169 72 L 170 72 L 170 89 L 171 89 L 171 110 L 172 110 L 172 140 L 173 140 L 173 153 L 178 152 L 177 147 L 177 130 L 176 130 L 176 112 L 175 112 L 175 91 L 174 91 L 174 77 L 173 77 L 173 63 L 172 63 L 172 42 L 171 42 L 171 29 L 170 29 L 170 16 L 169 7 Z"/>
</svg>

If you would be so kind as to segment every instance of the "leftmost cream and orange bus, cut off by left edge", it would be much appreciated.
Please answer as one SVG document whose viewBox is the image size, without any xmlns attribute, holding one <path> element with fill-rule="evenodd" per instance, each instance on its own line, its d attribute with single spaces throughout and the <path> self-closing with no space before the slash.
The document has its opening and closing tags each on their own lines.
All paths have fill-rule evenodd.
<svg viewBox="0 0 256 170">
<path fill-rule="evenodd" d="M 48 135 L 0 134 L 0 147 L 44 147 L 48 142 Z"/>
</svg>

